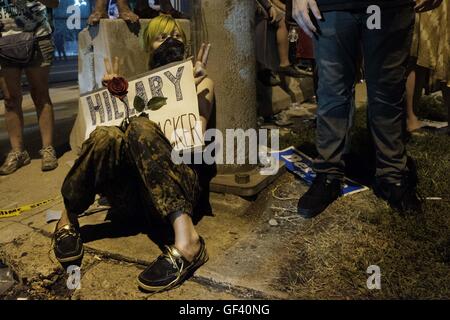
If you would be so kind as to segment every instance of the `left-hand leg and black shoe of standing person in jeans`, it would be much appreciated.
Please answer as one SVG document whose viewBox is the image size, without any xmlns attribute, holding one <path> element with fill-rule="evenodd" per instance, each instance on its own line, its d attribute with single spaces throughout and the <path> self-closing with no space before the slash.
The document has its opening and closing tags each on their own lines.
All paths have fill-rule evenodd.
<svg viewBox="0 0 450 320">
<path fill-rule="evenodd" d="M 299 200 L 299 214 L 311 218 L 341 192 L 349 117 L 353 104 L 355 61 L 359 52 L 358 19 L 346 11 L 322 13 L 314 52 L 318 70 L 318 108 L 314 162 L 317 177 Z"/>
</svg>

